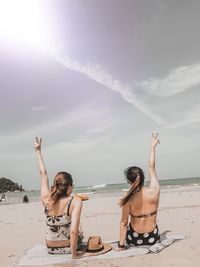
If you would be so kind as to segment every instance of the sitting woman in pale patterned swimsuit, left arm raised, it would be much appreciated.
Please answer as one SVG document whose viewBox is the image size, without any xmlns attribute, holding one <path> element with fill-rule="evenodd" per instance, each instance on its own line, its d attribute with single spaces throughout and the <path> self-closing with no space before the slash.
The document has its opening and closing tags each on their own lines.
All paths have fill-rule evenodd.
<svg viewBox="0 0 200 267">
<path fill-rule="evenodd" d="M 82 241 L 79 222 L 82 201 L 72 197 L 73 180 L 70 173 L 59 172 L 49 190 L 49 179 L 41 153 L 42 139 L 34 144 L 41 175 L 41 201 L 46 213 L 46 245 L 48 253 L 63 254 L 71 250 L 72 258 Z"/>
</svg>

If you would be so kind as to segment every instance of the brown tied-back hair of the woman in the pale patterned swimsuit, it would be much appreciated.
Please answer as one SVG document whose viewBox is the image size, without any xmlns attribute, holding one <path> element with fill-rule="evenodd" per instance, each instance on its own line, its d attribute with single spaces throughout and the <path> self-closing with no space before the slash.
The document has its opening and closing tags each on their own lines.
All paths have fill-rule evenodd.
<svg viewBox="0 0 200 267">
<path fill-rule="evenodd" d="M 73 185 L 72 176 L 68 172 L 59 172 L 51 186 L 50 199 L 54 205 L 60 198 L 67 196 L 67 189 Z"/>
</svg>

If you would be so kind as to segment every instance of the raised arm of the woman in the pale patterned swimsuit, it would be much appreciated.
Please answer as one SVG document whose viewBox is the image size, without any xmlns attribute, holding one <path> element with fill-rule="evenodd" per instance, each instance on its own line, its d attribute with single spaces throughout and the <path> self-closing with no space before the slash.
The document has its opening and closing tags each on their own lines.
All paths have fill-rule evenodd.
<svg viewBox="0 0 200 267">
<path fill-rule="evenodd" d="M 46 199 L 49 196 L 49 179 L 48 179 L 47 171 L 46 171 L 44 161 L 42 158 L 41 146 L 42 146 L 42 138 L 36 137 L 34 148 L 35 148 L 39 171 L 41 175 L 41 200 L 43 204 L 46 205 Z"/>
</svg>

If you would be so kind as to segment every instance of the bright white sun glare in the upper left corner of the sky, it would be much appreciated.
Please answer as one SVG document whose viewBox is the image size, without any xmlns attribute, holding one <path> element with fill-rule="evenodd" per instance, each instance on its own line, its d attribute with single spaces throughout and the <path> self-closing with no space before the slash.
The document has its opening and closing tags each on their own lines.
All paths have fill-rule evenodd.
<svg viewBox="0 0 200 267">
<path fill-rule="evenodd" d="M 0 41 L 24 42 L 44 49 L 50 24 L 43 0 L 0 0 Z"/>
</svg>

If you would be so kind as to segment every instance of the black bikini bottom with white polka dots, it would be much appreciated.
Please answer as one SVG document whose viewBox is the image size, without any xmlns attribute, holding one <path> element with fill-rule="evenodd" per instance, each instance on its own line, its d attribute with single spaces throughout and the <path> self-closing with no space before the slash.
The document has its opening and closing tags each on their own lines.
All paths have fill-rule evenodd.
<svg viewBox="0 0 200 267">
<path fill-rule="evenodd" d="M 137 233 L 129 224 L 126 234 L 126 242 L 130 246 L 153 245 L 160 241 L 158 226 L 150 233 Z"/>
</svg>

